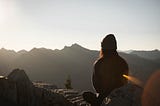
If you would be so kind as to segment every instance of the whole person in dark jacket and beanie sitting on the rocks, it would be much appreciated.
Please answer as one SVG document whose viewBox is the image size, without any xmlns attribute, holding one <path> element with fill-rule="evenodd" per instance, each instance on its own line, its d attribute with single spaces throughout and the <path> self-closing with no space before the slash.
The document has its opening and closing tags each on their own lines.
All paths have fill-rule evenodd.
<svg viewBox="0 0 160 106">
<path fill-rule="evenodd" d="M 123 74 L 128 75 L 128 70 L 126 61 L 118 55 L 115 36 L 107 35 L 101 42 L 100 58 L 94 64 L 92 76 L 93 86 L 99 96 L 86 92 L 84 99 L 92 106 L 100 106 L 111 91 L 127 84 Z"/>
</svg>

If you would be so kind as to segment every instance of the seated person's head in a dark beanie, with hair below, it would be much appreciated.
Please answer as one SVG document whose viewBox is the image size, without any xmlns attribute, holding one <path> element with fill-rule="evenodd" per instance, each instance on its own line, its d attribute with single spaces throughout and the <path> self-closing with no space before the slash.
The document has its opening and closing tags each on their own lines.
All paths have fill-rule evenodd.
<svg viewBox="0 0 160 106">
<path fill-rule="evenodd" d="M 114 52 L 117 50 L 117 41 L 113 34 L 108 34 L 101 42 L 101 53 L 100 56 L 103 57 L 106 52 Z"/>
</svg>

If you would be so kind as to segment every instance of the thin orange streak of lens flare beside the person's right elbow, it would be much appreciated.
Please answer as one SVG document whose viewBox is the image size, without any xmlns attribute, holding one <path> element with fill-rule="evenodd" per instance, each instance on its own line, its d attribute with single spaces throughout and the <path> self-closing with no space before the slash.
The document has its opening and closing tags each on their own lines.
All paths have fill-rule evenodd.
<svg viewBox="0 0 160 106">
<path fill-rule="evenodd" d="M 125 77 L 126 79 L 128 79 L 129 81 L 133 82 L 134 84 L 143 87 L 144 84 L 142 83 L 142 81 L 140 81 L 139 79 L 133 77 L 133 76 L 129 76 L 129 75 L 125 75 L 123 74 L 123 77 Z"/>
</svg>

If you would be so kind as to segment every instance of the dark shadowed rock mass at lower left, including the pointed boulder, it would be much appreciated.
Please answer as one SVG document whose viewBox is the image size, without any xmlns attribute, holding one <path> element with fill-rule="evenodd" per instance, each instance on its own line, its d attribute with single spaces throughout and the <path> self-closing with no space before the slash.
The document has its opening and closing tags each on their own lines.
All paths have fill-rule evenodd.
<svg viewBox="0 0 160 106">
<path fill-rule="evenodd" d="M 0 104 L 3 106 L 72 106 L 63 95 L 36 87 L 24 70 L 15 69 L 0 78 Z"/>
</svg>

